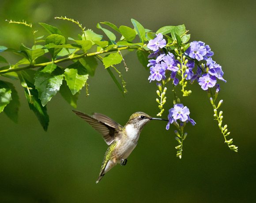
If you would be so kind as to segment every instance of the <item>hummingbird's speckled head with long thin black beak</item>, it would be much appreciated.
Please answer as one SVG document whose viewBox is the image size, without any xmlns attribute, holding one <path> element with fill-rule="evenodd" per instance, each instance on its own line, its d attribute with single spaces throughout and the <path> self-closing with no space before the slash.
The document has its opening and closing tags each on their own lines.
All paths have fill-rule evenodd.
<svg viewBox="0 0 256 203">
<path fill-rule="evenodd" d="M 164 120 L 164 119 L 153 118 L 147 115 L 147 113 L 136 112 L 136 113 L 133 113 L 132 116 L 129 118 L 128 124 L 133 124 L 134 127 L 142 129 L 144 125 L 146 125 L 150 120 Z"/>
</svg>

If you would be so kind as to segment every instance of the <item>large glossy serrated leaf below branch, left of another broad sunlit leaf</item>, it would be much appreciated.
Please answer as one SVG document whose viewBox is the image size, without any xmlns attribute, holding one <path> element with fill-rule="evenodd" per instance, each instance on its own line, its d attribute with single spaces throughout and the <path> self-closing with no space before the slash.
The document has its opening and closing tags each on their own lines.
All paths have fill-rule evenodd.
<svg viewBox="0 0 256 203">
<path fill-rule="evenodd" d="M 43 69 L 39 69 L 35 75 L 35 87 L 38 90 L 39 98 L 43 106 L 60 90 L 63 80 L 63 74 L 60 73 L 60 68 L 55 67 L 55 71 L 53 72 L 50 72 L 49 69 L 50 68 L 46 66 Z"/>
</svg>

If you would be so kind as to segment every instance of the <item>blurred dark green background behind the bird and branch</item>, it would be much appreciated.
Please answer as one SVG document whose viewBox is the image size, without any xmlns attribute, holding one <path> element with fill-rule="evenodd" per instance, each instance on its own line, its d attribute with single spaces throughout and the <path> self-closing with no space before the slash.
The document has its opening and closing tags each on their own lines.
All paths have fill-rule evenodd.
<svg viewBox="0 0 256 203">
<path fill-rule="evenodd" d="M 184 23 L 192 40 L 210 45 L 214 60 L 222 65 L 228 82 L 221 83 L 219 98 L 239 151 L 224 144 L 207 95 L 195 84 L 192 95 L 182 98 L 197 123 L 186 127 L 183 158 L 176 158 L 174 128 L 166 131 L 164 122 L 151 122 L 128 164 L 116 166 L 95 184 L 107 148 L 98 132 L 76 117 L 60 94 L 49 102 L 50 124 L 44 132 L 15 83 L 19 123 L 0 114 L 0 202 L 255 202 L 255 10 L 254 0 L 1 0 L 0 45 L 12 48 L 22 42 L 31 45 L 32 36 L 5 19 L 25 19 L 38 28 L 38 22 L 49 23 L 74 38 L 79 29 L 55 16 L 77 19 L 100 34 L 96 23 L 102 21 L 132 26 L 134 18 L 151 30 Z M 119 68 L 128 94 L 123 97 L 99 65 L 89 79 L 90 96 L 83 90 L 79 97 L 80 111 L 104 113 L 120 124 L 136 111 L 156 115 L 155 83 L 148 83 L 149 73 L 135 53 L 125 59 L 129 71 Z M 172 94 L 168 96 L 166 109 L 172 105 Z"/>
</svg>

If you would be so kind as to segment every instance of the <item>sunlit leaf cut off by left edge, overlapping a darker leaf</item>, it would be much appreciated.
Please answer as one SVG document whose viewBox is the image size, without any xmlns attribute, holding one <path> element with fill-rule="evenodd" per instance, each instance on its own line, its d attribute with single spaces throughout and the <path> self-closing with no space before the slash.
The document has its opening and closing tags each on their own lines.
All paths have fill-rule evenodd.
<svg viewBox="0 0 256 203">
<path fill-rule="evenodd" d="M 0 113 L 11 102 L 11 88 L 7 83 L 0 80 Z"/>
</svg>

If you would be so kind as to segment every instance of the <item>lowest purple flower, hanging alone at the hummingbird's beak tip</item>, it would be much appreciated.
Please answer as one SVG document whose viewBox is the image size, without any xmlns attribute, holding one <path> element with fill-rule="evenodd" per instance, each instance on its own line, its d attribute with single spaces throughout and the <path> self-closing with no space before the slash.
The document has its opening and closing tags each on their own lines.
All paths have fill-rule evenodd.
<svg viewBox="0 0 256 203">
<path fill-rule="evenodd" d="M 173 121 L 177 122 L 177 120 L 181 120 L 182 122 L 189 121 L 192 125 L 195 125 L 196 122 L 188 116 L 189 113 L 190 112 L 187 106 L 184 106 L 183 104 L 175 104 L 173 108 L 169 109 L 169 122 L 166 125 L 166 130 L 169 129 L 169 126 L 173 123 Z"/>
</svg>

